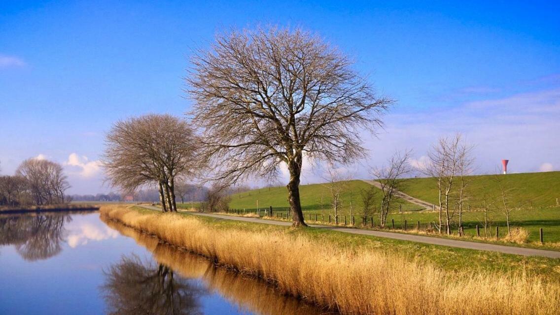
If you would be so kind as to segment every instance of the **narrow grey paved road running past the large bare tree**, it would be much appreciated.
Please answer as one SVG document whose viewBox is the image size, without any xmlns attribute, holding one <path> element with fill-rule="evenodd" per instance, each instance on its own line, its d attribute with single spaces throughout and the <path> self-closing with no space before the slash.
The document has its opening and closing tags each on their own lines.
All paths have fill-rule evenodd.
<svg viewBox="0 0 560 315">
<path fill-rule="evenodd" d="M 141 205 L 141 206 L 147 209 L 161 210 L 161 208 L 158 208 L 157 206 L 149 206 L 149 205 Z M 259 218 L 235 217 L 233 215 L 198 213 L 198 212 L 190 212 L 190 211 L 189 214 L 200 215 L 201 217 L 212 217 L 212 218 L 219 218 L 224 220 L 236 220 L 242 222 L 253 222 L 253 223 L 272 224 L 272 225 L 284 225 L 284 226 L 292 225 L 290 222 L 265 220 Z M 550 257 L 550 258 L 560 258 L 560 252 L 535 250 L 533 248 L 466 242 L 466 241 L 458 241 L 456 239 L 429 237 L 429 236 L 421 236 L 415 234 L 402 234 L 402 233 L 394 233 L 394 232 L 372 231 L 366 229 L 332 227 L 328 225 L 310 225 L 310 226 L 316 228 L 331 229 L 333 231 L 346 232 L 352 234 L 371 235 L 376 237 L 400 239 L 402 241 L 419 242 L 419 243 L 458 247 L 458 248 L 468 248 L 470 250 L 493 251 L 493 252 L 502 252 L 502 253 L 514 254 L 514 255 L 524 255 L 524 256 L 542 256 L 542 257 Z"/>
</svg>

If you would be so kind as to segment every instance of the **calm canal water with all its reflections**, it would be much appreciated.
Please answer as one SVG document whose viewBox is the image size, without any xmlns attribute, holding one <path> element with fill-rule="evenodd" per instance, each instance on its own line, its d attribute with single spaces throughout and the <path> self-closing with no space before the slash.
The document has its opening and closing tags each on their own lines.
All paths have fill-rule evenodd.
<svg viewBox="0 0 560 315">
<path fill-rule="evenodd" d="M 319 314 L 98 213 L 0 216 L 0 314 Z"/>
</svg>

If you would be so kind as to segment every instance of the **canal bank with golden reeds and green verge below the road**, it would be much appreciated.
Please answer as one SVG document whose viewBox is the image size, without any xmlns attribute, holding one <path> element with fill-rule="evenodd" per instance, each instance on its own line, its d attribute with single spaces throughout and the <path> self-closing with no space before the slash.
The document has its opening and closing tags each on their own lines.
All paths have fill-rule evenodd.
<svg viewBox="0 0 560 315">
<path fill-rule="evenodd" d="M 315 229 L 213 222 L 185 214 L 102 206 L 101 214 L 218 264 L 275 283 L 282 292 L 354 314 L 557 314 L 560 284 L 527 272 L 517 257 L 494 254 L 506 272 L 454 270 L 424 256 L 466 260 L 474 251 L 341 236 Z M 318 243 L 318 239 L 322 241 Z M 404 242 L 402 242 L 404 243 Z M 395 250 L 387 249 L 389 246 Z M 416 255 L 410 250 L 416 248 Z M 426 255 L 424 255 L 424 250 Z M 473 255 L 474 256 L 474 255 Z M 476 260 L 477 256 L 470 259 Z M 523 265 L 560 269 L 557 260 L 522 258 Z M 492 264 L 492 261 L 486 261 Z M 525 272 L 523 271 L 525 270 Z M 538 269 L 535 269 L 538 270 Z M 560 270 L 556 271 L 560 272 Z M 540 274 L 540 275 L 539 275 Z"/>
</svg>

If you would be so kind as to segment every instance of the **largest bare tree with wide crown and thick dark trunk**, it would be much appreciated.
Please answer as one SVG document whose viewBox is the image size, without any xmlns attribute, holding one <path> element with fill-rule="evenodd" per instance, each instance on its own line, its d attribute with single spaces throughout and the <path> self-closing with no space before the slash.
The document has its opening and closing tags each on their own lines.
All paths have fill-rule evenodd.
<svg viewBox="0 0 560 315">
<path fill-rule="evenodd" d="M 352 65 L 340 50 L 300 29 L 217 34 L 193 55 L 186 79 L 213 179 L 274 176 L 284 163 L 293 225 L 305 225 L 299 191 L 304 154 L 340 163 L 363 157 L 360 132 L 373 132 L 392 103 Z"/>
</svg>

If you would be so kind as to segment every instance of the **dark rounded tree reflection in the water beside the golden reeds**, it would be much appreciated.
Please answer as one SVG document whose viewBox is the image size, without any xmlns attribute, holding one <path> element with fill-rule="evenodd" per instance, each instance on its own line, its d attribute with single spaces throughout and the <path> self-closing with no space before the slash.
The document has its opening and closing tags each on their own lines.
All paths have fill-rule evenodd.
<svg viewBox="0 0 560 315">
<path fill-rule="evenodd" d="M 123 257 L 105 275 L 102 290 L 109 314 L 201 314 L 198 298 L 204 288 L 165 265 Z"/>
</svg>

